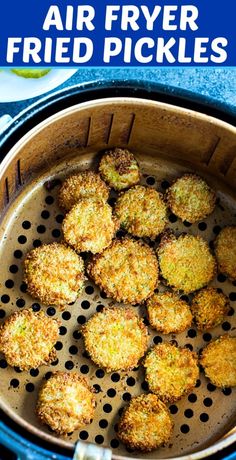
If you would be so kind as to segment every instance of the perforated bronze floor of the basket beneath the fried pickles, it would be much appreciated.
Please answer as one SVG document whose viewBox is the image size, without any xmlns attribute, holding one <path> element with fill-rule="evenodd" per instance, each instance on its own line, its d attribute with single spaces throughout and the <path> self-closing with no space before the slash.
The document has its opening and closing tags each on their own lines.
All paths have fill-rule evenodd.
<svg viewBox="0 0 236 460">
<path fill-rule="evenodd" d="M 91 123 L 91 122 L 90 122 Z M 91 125 L 90 125 L 91 126 Z M 113 130 L 115 126 L 113 125 Z M 130 138 L 129 132 L 129 138 Z M 86 136 L 85 136 L 86 137 Z M 113 135 L 114 139 L 114 135 Z M 66 137 L 64 137 L 67 142 Z M 131 146 L 132 147 L 132 146 Z M 163 153 L 156 157 L 149 156 L 139 149 L 134 153 L 140 163 L 142 183 L 164 192 L 169 183 L 178 175 L 194 170 L 173 160 L 163 158 Z M 65 311 L 56 307 L 46 308 L 35 302 L 26 292 L 22 283 L 22 260 L 26 253 L 41 243 L 60 241 L 61 222 L 63 215 L 57 204 L 60 181 L 65 175 L 75 170 L 96 168 L 96 152 L 85 152 L 82 156 L 75 151 L 67 156 L 65 162 L 56 166 L 48 165 L 45 174 L 37 177 L 26 185 L 21 194 L 12 202 L 2 224 L 0 244 L 0 317 L 3 320 L 13 311 L 32 307 L 35 311 L 42 308 L 49 316 L 60 319 L 60 339 L 56 344 L 58 359 L 51 366 L 42 366 L 38 370 L 19 372 L 7 366 L 0 359 L 1 372 L 1 407 L 16 422 L 30 432 L 39 435 L 60 446 L 72 448 L 80 438 L 98 445 L 110 446 L 115 458 L 137 457 L 137 452 L 127 450 L 116 438 L 116 424 L 122 408 L 133 395 L 147 391 L 144 382 L 142 365 L 131 372 L 106 374 L 98 369 L 84 351 L 80 327 L 94 312 L 100 311 L 104 305 L 113 305 L 98 288 L 88 280 L 82 296 Z M 19 175 L 19 168 L 16 170 Z M 187 231 L 206 238 L 212 247 L 212 241 L 220 228 L 236 223 L 236 202 L 227 193 L 227 188 L 218 178 L 201 171 L 210 185 L 217 191 L 217 206 L 214 213 L 204 222 L 194 225 L 182 223 L 174 215 L 169 215 L 169 227 L 175 232 Z M 114 202 L 115 194 L 111 195 Z M 155 246 L 157 243 L 155 243 Z M 200 333 L 193 326 L 181 334 L 161 335 L 149 328 L 150 346 L 161 341 L 170 341 L 199 351 L 211 338 L 224 333 L 235 335 L 234 306 L 236 301 L 236 285 L 225 276 L 218 275 L 212 282 L 229 296 L 231 309 L 221 326 L 206 333 Z M 163 289 L 163 286 L 160 286 Z M 189 296 L 190 300 L 191 296 Z M 146 317 L 145 307 L 133 307 L 141 316 Z M 37 392 L 43 377 L 48 377 L 52 370 L 74 369 L 90 380 L 96 390 L 97 408 L 94 421 L 80 432 L 67 438 L 56 437 L 49 429 L 37 420 L 34 410 Z M 176 404 L 170 405 L 175 423 L 173 437 L 168 446 L 150 454 L 140 455 L 142 458 L 169 458 L 201 451 L 224 437 L 235 424 L 235 390 L 216 389 L 201 372 L 200 380 L 193 392 Z"/>
</svg>

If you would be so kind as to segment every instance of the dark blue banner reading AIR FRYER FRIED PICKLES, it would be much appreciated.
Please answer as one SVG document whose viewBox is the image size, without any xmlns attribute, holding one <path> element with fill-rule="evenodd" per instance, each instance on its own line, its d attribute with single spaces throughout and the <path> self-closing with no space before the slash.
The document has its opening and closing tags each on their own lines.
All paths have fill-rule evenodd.
<svg viewBox="0 0 236 460">
<path fill-rule="evenodd" d="M 2 0 L 0 67 L 236 66 L 235 0 Z"/>
</svg>

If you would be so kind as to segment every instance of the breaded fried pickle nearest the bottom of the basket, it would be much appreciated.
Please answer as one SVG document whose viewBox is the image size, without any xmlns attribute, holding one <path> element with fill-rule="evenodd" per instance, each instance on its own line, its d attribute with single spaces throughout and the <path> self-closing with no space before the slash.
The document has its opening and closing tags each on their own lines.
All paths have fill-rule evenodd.
<svg viewBox="0 0 236 460">
<path fill-rule="evenodd" d="M 118 423 L 118 438 L 131 449 L 150 452 L 165 445 L 173 433 L 167 406 L 154 394 L 131 399 Z"/>
</svg>

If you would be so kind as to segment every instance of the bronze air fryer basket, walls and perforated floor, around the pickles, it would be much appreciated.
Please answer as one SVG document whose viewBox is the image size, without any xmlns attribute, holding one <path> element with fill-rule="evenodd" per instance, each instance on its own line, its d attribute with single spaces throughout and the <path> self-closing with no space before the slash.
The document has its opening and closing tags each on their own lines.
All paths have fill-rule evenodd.
<svg viewBox="0 0 236 460">
<path fill-rule="evenodd" d="M 57 204 L 60 180 L 72 171 L 96 169 L 98 152 L 110 147 L 132 150 L 141 166 L 142 183 L 164 191 L 183 172 L 194 171 L 217 190 L 217 207 L 204 222 L 187 228 L 210 245 L 219 229 L 236 223 L 236 129 L 209 116 L 136 98 L 107 98 L 82 103 L 46 119 L 26 134 L 9 152 L 0 171 L 1 305 L 0 318 L 23 307 L 42 308 L 60 319 L 58 359 L 50 367 L 19 372 L 0 359 L 0 407 L 31 433 L 59 446 L 72 448 L 80 438 L 109 446 L 114 458 L 137 457 L 116 438 L 116 424 L 132 395 L 147 391 L 142 366 L 131 372 L 105 374 L 84 351 L 80 327 L 103 305 L 112 305 L 88 280 L 82 296 L 64 312 L 34 301 L 22 283 L 22 259 L 41 243 L 60 241 L 62 213 Z M 113 196 L 114 198 L 114 196 Z M 187 225 L 187 224 L 186 224 Z M 169 227 L 186 231 L 186 225 L 169 216 Z M 189 225 L 188 225 L 189 226 Z M 161 335 L 150 329 L 150 345 L 163 341 L 199 351 L 214 337 L 234 335 L 236 287 L 223 275 L 212 283 L 231 301 L 226 321 L 207 333 L 191 327 L 178 335 Z M 137 308 L 137 307 L 136 307 Z M 145 308 L 139 307 L 142 316 Z M 39 424 L 34 407 L 39 385 L 51 370 L 77 370 L 96 390 L 96 416 L 90 426 L 67 438 L 58 438 Z M 201 372 L 194 391 L 170 406 L 174 435 L 165 448 L 142 458 L 173 458 L 235 439 L 235 390 L 216 389 Z M 222 441 L 223 439 L 223 441 Z M 218 447 L 217 447 L 218 446 Z"/>
</svg>

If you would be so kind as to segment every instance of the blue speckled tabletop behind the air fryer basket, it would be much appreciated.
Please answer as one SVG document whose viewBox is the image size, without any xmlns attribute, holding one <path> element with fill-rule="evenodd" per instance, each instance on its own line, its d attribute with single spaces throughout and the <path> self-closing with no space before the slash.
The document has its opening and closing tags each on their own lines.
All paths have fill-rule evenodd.
<svg viewBox="0 0 236 460">
<path fill-rule="evenodd" d="M 130 79 L 149 80 L 173 86 L 174 88 L 185 89 L 195 94 L 206 96 L 213 103 L 220 102 L 226 105 L 226 109 L 228 107 L 231 113 L 236 114 L 236 68 L 83 68 L 78 70 L 72 78 L 56 90 L 78 83 L 106 79 L 124 81 Z M 28 99 L 27 101 L 0 104 L 0 116 L 5 113 L 15 116 L 41 97 Z"/>
</svg>

